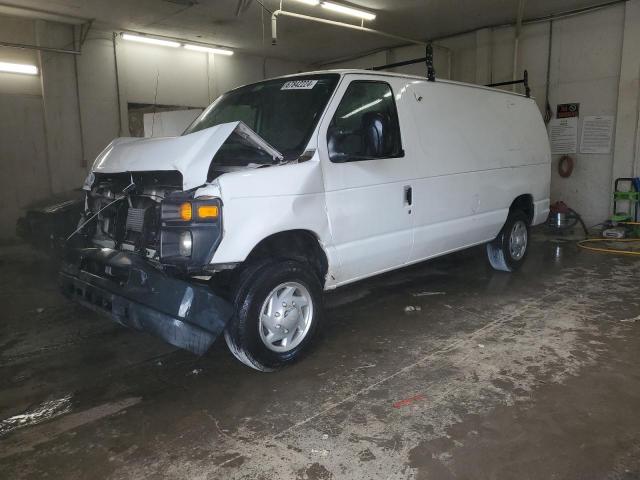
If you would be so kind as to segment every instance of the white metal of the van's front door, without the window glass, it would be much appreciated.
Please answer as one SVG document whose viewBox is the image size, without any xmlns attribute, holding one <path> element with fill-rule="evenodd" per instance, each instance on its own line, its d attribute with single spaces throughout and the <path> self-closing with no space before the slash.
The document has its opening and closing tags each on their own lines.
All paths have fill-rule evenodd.
<svg viewBox="0 0 640 480">
<path fill-rule="evenodd" d="M 401 266 L 409 260 L 411 252 L 411 209 L 405 202 L 404 187 L 407 179 L 413 177 L 414 167 L 406 155 L 347 163 L 329 160 L 327 130 L 353 80 L 385 82 L 394 91 L 397 82 L 393 77 L 345 75 L 320 124 L 318 151 L 329 222 L 340 262 L 336 284 Z"/>
</svg>

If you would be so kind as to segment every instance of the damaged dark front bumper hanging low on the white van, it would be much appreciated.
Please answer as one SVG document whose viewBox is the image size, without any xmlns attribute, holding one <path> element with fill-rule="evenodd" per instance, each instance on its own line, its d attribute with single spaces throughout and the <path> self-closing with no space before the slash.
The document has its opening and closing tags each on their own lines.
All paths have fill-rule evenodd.
<svg viewBox="0 0 640 480">
<path fill-rule="evenodd" d="M 170 277 L 139 255 L 109 248 L 76 253 L 60 272 L 67 297 L 176 347 L 203 354 L 233 314 L 207 287 Z"/>
</svg>

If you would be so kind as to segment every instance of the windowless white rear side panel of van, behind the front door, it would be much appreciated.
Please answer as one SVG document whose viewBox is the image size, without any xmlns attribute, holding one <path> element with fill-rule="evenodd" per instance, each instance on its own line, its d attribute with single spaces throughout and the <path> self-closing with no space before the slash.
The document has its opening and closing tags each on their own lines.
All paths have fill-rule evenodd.
<svg viewBox="0 0 640 480">
<path fill-rule="evenodd" d="M 414 122 L 411 261 L 492 240 L 519 195 L 546 218 L 550 153 L 535 102 L 448 83 L 412 82 L 399 102 Z"/>
</svg>

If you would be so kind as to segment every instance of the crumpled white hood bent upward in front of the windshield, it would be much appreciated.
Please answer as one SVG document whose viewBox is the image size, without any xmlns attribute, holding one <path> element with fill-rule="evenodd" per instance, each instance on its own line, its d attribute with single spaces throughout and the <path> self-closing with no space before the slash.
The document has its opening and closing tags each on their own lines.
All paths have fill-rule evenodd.
<svg viewBox="0 0 640 480">
<path fill-rule="evenodd" d="M 214 155 L 233 132 L 256 148 L 266 151 L 274 159 L 282 159 L 280 152 L 238 121 L 181 137 L 116 138 L 98 155 L 92 171 L 121 173 L 177 170 L 182 174 L 182 188 L 189 190 L 206 183 Z"/>
</svg>

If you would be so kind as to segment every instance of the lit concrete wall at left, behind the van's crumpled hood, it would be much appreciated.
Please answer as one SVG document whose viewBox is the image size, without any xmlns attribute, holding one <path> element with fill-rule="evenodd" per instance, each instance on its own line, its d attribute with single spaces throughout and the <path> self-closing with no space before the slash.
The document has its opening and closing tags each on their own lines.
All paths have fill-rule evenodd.
<svg viewBox="0 0 640 480">
<path fill-rule="evenodd" d="M 74 48 L 73 27 L 24 18 L 0 16 L 0 40 Z M 128 103 L 204 108 L 231 88 L 307 69 L 119 37 L 114 46 L 113 32 L 96 30 L 82 55 L 0 47 L 0 61 L 40 68 L 38 76 L 0 74 L 0 239 L 14 236 L 30 203 L 81 186 L 96 155 L 129 135 Z"/>
</svg>

